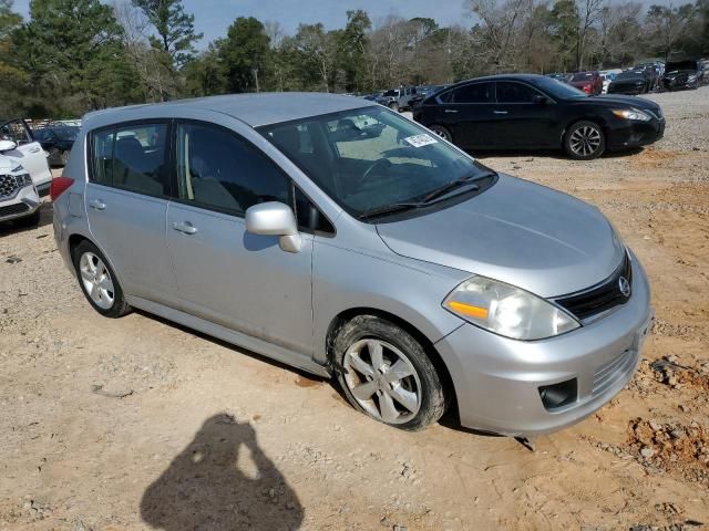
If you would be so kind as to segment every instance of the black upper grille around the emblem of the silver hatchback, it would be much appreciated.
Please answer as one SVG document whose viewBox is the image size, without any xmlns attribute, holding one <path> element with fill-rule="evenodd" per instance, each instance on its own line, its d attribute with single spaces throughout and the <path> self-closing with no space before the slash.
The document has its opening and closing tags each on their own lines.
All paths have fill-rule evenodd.
<svg viewBox="0 0 709 531">
<path fill-rule="evenodd" d="M 556 303 L 580 321 L 604 313 L 630 299 L 630 294 L 624 295 L 620 291 L 620 277 L 633 283 L 633 267 L 627 253 L 618 269 L 606 280 L 588 290 L 556 299 Z"/>
</svg>

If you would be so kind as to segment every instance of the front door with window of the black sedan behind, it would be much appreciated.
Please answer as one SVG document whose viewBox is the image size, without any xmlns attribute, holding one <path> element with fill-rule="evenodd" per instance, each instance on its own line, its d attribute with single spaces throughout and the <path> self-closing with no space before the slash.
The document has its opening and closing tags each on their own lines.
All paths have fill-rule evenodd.
<svg viewBox="0 0 709 531">
<path fill-rule="evenodd" d="M 559 147 L 561 125 L 553 100 L 516 81 L 499 81 L 495 92 L 494 134 L 500 147 Z M 543 96 L 545 103 L 535 102 L 536 96 Z"/>
</svg>

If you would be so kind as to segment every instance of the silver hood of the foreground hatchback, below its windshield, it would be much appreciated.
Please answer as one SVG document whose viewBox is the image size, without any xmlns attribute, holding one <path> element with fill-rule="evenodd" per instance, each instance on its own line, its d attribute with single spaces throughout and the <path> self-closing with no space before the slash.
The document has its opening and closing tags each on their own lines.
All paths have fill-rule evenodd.
<svg viewBox="0 0 709 531">
<path fill-rule="evenodd" d="M 397 254 L 514 284 L 541 296 L 586 289 L 624 256 L 600 211 L 551 188 L 501 175 L 479 196 L 377 225 Z"/>
</svg>

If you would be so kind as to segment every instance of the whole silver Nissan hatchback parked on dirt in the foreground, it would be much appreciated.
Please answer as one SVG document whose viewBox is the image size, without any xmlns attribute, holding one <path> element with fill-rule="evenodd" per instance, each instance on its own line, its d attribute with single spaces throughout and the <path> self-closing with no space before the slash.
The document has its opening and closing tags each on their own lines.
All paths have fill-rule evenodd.
<svg viewBox="0 0 709 531">
<path fill-rule="evenodd" d="M 506 435 L 576 423 L 633 377 L 653 321 L 595 207 L 359 98 L 91 113 L 51 195 L 102 315 L 141 309 L 333 376 L 403 429 L 446 407 Z"/>
</svg>

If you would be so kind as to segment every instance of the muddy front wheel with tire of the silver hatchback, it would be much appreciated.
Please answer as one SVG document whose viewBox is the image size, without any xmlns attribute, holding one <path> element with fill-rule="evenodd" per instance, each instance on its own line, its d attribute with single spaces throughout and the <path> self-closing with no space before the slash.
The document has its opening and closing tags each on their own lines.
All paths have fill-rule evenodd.
<svg viewBox="0 0 709 531">
<path fill-rule="evenodd" d="M 359 315 L 348 321 L 335 337 L 333 357 L 349 403 L 380 423 L 415 431 L 445 412 L 445 393 L 431 358 L 411 334 L 384 319 Z"/>
</svg>

